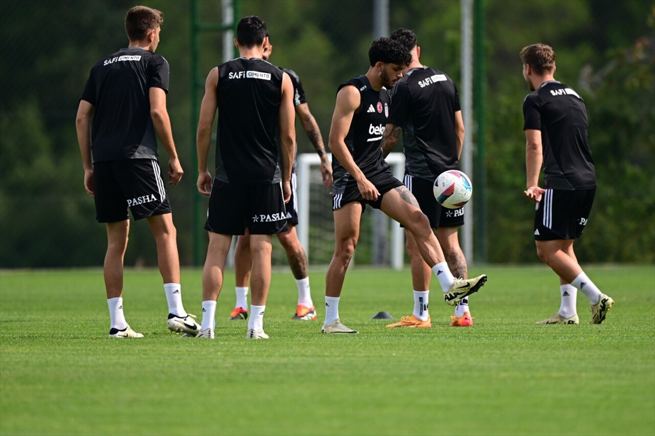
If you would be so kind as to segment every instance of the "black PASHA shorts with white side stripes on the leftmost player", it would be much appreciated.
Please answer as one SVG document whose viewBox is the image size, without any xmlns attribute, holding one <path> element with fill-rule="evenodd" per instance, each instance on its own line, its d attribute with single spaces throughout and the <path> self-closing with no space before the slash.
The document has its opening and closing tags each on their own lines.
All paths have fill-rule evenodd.
<svg viewBox="0 0 655 436">
<path fill-rule="evenodd" d="M 170 203 L 155 159 L 107 160 L 93 164 L 94 200 L 99 223 L 115 223 L 170 213 Z"/>
</svg>

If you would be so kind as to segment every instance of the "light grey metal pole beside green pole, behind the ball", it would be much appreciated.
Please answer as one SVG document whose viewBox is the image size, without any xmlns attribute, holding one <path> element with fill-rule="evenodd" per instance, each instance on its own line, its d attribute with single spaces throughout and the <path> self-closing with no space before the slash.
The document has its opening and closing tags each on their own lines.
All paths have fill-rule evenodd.
<svg viewBox="0 0 655 436">
<path fill-rule="evenodd" d="M 462 79 L 461 84 L 461 94 L 460 101 L 462 102 L 462 118 L 464 118 L 464 127 L 466 128 L 466 134 L 464 135 L 464 148 L 462 149 L 462 159 L 460 160 L 460 168 L 465 172 L 471 179 L 473 177 L 473 117 L 472 117 L 472 65 L 473 65 L 473 56 L 472 56 L 472 33 L 473 33 L 473 20 L 472 20 L 472 10 L 473 10 L 473 0 L 461 0 L 461 10 L 462 10 L 462 42 L 460 44 L 460 62 L 462 64 Z M 476 190 L 476 184 L 474 184 L 474 190 Z M 466 222 L 464 227 L 462 227 L 462 249 L 464 250 L 464 257 L 466 261 L 470 264 L 474 261 L 473 253 L 473 222 L 475 217 L 475 200 L 472 199 L 466 205 Z"/>
</svg>

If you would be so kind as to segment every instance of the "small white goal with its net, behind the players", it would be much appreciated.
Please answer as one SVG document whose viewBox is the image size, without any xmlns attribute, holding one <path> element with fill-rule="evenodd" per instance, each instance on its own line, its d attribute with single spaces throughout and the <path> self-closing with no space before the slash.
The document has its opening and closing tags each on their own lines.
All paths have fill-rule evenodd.
<svg viewBox="0 0 655 436">
<path fill-rule="evenodd" d="M 327 158 L 331 161 L 331 154 L 327 154 Z M 391 165 L 394 175 L 402 181 L 405 172 L 405 155 L 390 153 L 386 157 L 386 162 Z M 296 194 L 299 221 L 297 232 L 307 253 L 309 264 L 312 265 L 329 263 L 334 251 L 332 198 L 329 189 L 322 183 L 319 166 L 320 158 L 315 153 L 303 153 L 297 156 Z M 381 217 L 375 216 L 375 213 L 379 213 Z M 370 227 L 370 236 L 364 231 L 364 227 Z M 402 269 L 405 259 L 403 228 L 380 211 L 367 208 L 367 213 L 362 217 L 362 232 L 356 251 L 374 253 L 376 247 L 372 245 L 381 239 L 388 240 L 388 244 L 377 244 L 383 250 L 388 246 L 388 253 L 379 253 L 380 257 L 385 259 L 383 264 L 388 264 L 395 270 Z"/>
</svg>

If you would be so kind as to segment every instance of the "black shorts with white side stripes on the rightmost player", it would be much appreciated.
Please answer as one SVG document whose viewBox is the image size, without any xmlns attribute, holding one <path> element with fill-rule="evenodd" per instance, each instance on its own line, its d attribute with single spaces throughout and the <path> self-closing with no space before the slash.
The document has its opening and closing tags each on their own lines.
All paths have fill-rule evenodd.
<svg viewBox="0 0 655 436">
<path fill-rule="evenodd" d="M 596 189 L 546 189 L 534 213 L 534 240 L 580 238 L 589 221 Z"/>
</svg>

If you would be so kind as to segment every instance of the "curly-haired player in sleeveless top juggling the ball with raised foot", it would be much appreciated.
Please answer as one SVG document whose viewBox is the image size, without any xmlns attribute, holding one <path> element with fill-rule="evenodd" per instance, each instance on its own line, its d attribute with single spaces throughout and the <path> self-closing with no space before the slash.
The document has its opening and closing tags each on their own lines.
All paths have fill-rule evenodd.
<svg viewBox="0 0 655 436">
<path fill-rule="evenodd" d="M 389 38 L 380 38 L 369 49 L 369 63 L 365 75 L 339 86 L 329 132 L 335 251 L 326 274 L 326 319 L 322 333 L 357 333 L 339 320 L 339 298 L 367 205 L 381 209 L 411 232 L 448 304 L 457 304 L 487 281 L 485 275 L 470 280 L 453 277 L 428 217 L 384 161 L 381 141 L 390 105 L 387 89 L 400 80 L 403 69 L 411 63 L 409 50 Z"/>
</svg>

